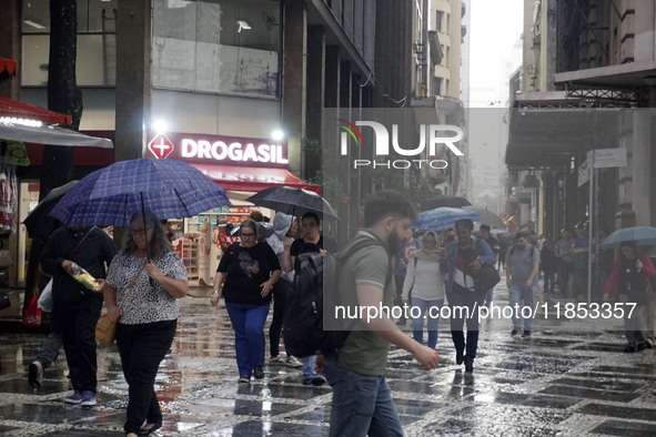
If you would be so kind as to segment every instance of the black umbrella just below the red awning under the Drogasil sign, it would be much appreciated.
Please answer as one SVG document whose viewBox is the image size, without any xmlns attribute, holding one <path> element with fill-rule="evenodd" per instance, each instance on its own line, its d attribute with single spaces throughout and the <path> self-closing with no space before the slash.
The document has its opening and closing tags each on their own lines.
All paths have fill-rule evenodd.
<svg viewBox="0 0 656 437">
<path fill-rule="evenodd" d="M 258 193 L 246 199 L 246 202 L 294 216 L 315 212 L 320 215 L 339 218 L 331 204 L 312 191 L 289 186 L 273 186 L 266 190 L 269 193 L 265 195 Z"/>
</svg>

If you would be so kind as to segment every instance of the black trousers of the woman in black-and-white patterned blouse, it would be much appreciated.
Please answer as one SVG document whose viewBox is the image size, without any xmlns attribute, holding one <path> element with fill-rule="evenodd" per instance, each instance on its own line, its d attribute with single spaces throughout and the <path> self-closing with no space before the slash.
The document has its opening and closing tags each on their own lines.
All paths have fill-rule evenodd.
<svg viewBox="0 0 656 437">
<path fill-rule="evenodd" d="M 160 363 L 171 348 L 178 321 L 139 325 L 117 324 L 117 346 L 121 355 L 123 375 L 130 386 L 125 434 L 139 433 L 143 420 L 162 420 L 154 384 Z"/>
</svg>

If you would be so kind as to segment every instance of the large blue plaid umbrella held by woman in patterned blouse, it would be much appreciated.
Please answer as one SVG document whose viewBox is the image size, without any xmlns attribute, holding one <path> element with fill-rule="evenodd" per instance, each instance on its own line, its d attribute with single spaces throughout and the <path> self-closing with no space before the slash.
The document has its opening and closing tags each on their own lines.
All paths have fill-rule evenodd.
<svg viewBox="0 0 656 437">
<path fill-rule="evenodd" d="M 125 227 L 142 207 L 164 220 L 228 204 L 223 189 L 190 164 L 142 157 L 115 162 L 81 179 L 50 215 L 67 226 Z"/>
</svg>

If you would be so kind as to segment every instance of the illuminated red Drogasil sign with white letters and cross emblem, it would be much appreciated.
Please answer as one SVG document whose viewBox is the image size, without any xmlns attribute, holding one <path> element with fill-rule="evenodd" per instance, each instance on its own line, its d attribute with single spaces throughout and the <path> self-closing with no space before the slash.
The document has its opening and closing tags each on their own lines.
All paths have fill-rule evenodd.
<svg viewBox="0 0 656 437">
<path fill-rule="evenodd" d="M 186 133 L 166 133 L 162 141 L 159 134 L 149 143 L 154 157 L 173 157 L 199 164 L 287 166 L 285 142 L 239 136 L 219 136 Z M 166 144 L 165 154 L 160 153 Z M 170 145 L 170 148 L 169 148 Z"/>
</svg>

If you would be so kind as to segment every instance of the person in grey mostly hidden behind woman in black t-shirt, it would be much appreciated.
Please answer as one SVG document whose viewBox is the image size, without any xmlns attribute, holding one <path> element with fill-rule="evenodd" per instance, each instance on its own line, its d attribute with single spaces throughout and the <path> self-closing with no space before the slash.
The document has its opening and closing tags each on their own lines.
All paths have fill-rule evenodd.
<svg viewBox="0 0 656 437">
<path fill-rule="evenodd" d="M 292 215 L 277 212 L 273 217 L 273 235 L 266 238 L 266 242 L 275 252 L 279 261 L 282 258 L 284 251 L 285 238 L 292 238 L 296 233 L 296 221 Z M 270 363 L 283 363 L 283 357 L 280 355 L 280 336 L 282 333 L 282 324 L 284 319 L 284 309 L 286 305 L 286 297 L 292 284 L 294 282 L 294 272 L 282 272 L 280 280 L 273 285 L 273 318 L 269 326 L 269 349 Z M 287 355 L 287 364 L 293 367 L 303 365 L 299 358 Z"/>
</svg>

